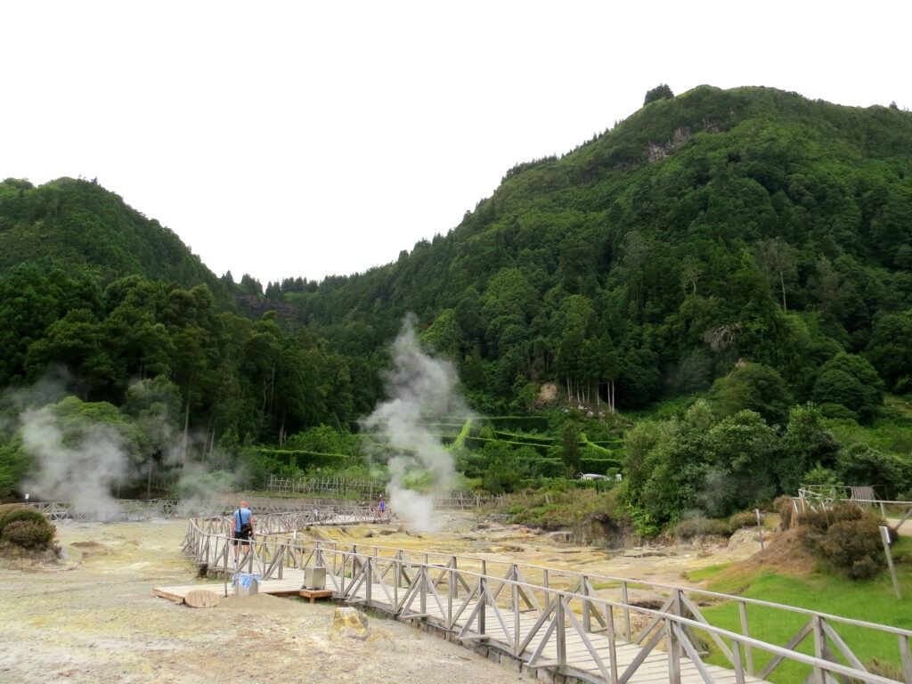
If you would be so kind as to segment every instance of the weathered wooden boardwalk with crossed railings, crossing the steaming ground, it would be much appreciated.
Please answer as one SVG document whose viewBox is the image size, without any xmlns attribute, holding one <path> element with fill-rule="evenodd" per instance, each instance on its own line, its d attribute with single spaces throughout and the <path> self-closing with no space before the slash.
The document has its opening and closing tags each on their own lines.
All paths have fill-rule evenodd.
<svg viewBox="0 0 912 684">
<path fill-rule="evenodd" d="M 191 520 L 184 548 L 210 575 L 223 576 L 225 590 L 232 575 L 246 573 L 260 575 L 261 592 L 296 596 L 306 568 L 322 567 L 337 601 L 420 625 L 489 658 L 512 659 L 554 682 L 746 684 L 775 676 L 814 684 L 912 684 L 912 631 L 698 589 L 295 538 L 307 525 L 337 522 L 328 515 L 260 516 L 257 538 L 237 564 L 223 517 Z M 155 593 L 181 600 L 199 588 Z M 644 589 L 662 600 L 637 602 Z M 735 631 L 712 624 L 701 611 L 722 602 L 737 606 Z M 771 619 L 796 626 L 787 643 L 764 639 L 762 624 Z M 849 644 L 872 638 L 895 645 L 903 679 L 872 674 L 855 656 Z"/>
</svg>

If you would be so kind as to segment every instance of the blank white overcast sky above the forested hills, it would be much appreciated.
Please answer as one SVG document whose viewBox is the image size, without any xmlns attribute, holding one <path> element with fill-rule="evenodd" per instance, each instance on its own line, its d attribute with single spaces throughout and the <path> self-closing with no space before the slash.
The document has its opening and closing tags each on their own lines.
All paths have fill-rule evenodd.
<svg viewBox="0 0 912 684">
<path fill-rule="evenodd" d="M 912 108 L 907 0 L 21 0 L 0 178 L 98 182 L 216 275 L 395 261 L 667 83 Z"/>
</svg>

